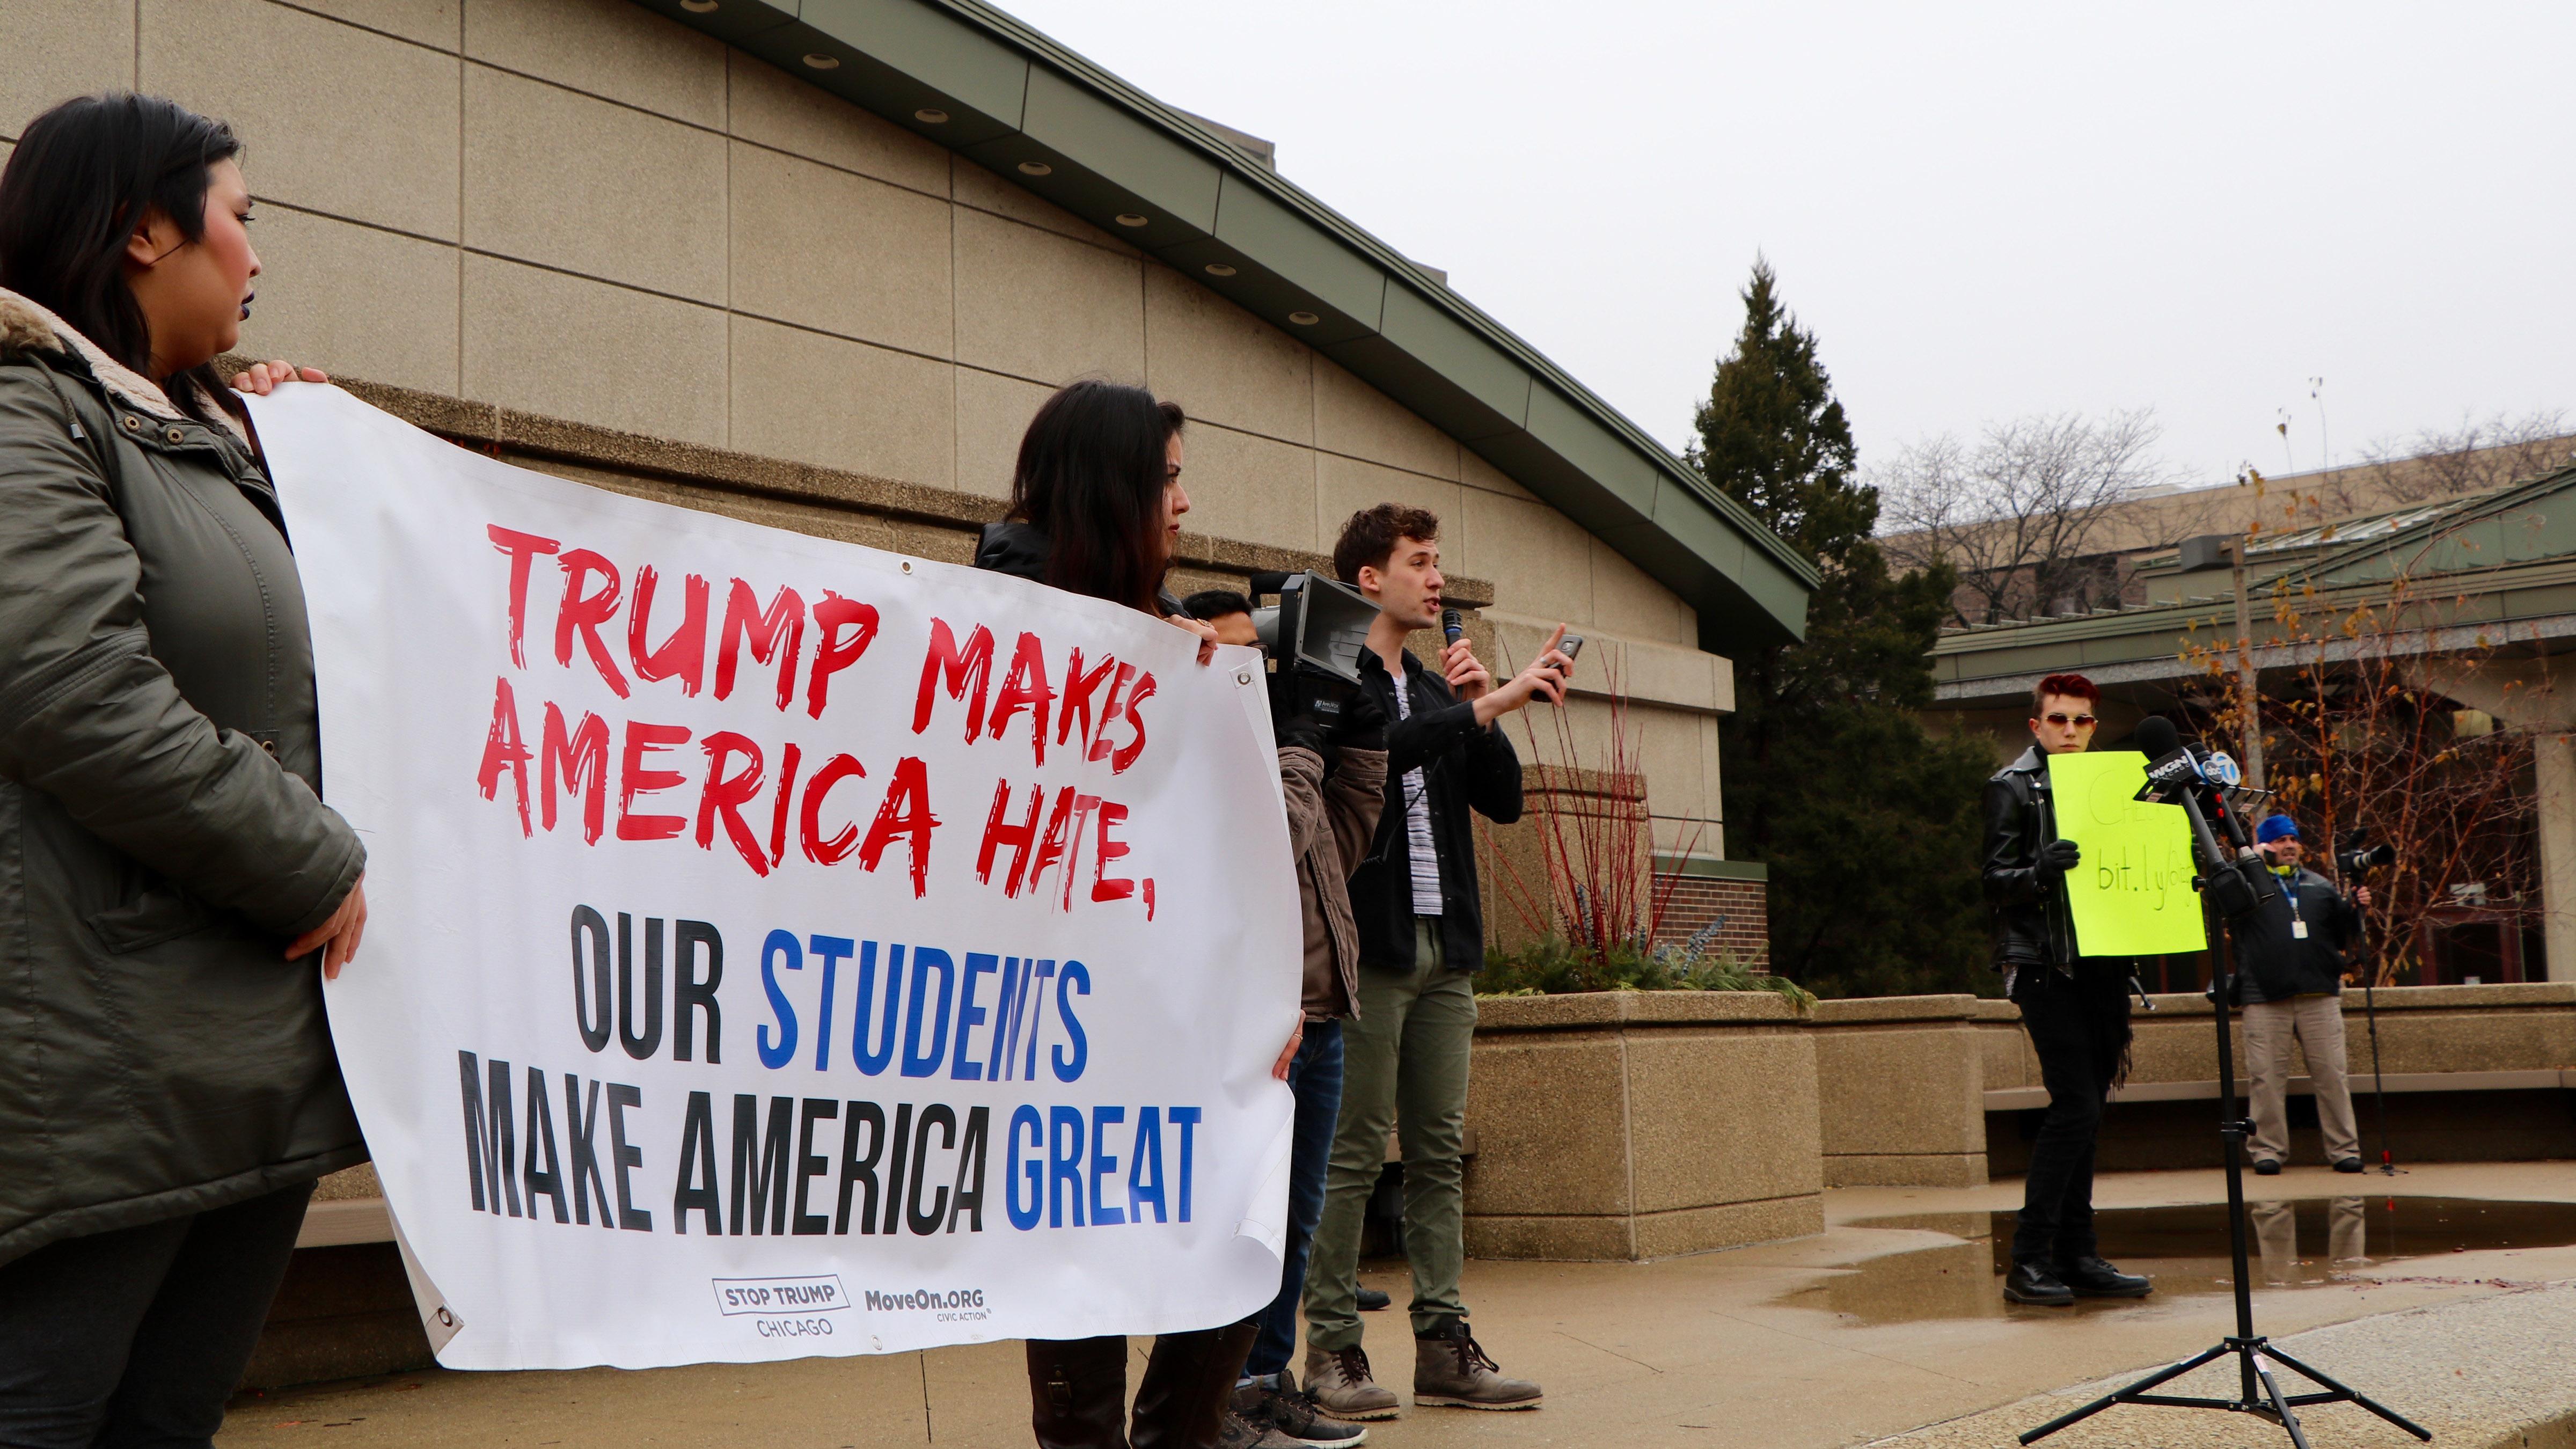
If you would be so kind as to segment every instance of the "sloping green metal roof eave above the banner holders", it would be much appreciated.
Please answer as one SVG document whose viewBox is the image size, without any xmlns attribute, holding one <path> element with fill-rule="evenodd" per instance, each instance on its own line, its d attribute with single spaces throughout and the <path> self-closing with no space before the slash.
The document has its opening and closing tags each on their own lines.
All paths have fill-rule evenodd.
<svg viewBox="0 0 2576 1449">
<path fill-rule="evenodd" d="M 1265 320 L 1314 312 L 1291 330 L 1680 593 L 1703 647 L 1806 634 L 1816 565 L 1698 469 L 1340 211 L 1023 21 L 981 0 L 636 3 L 1123 232 Z M 914 119 L 933 106 L 948 121 Z M 1033 183 L 999 165 L 1015 157 L 1054 170 Z M 1149 224 L 1123 229 L 1118 211 Z"/>
</svg>

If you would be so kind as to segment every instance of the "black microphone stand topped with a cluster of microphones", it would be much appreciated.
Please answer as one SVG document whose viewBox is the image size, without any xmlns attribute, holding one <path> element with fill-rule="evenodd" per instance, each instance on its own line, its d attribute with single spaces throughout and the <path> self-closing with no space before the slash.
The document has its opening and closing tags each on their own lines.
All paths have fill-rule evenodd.
<svg viewBox="0 0 2576 1449">
<path fill-rule="evenodd" d="M 2154 789 L 2156 786 L 2151 784 L 2148 792 Z M 2141 792 L 2141 797 L 2148 792 Z M 2195 797 L 2197 792 L 2192 786 L 2184 786 L 2179 794 L 2182 799 L 2177 804 L 2182 804 L 2184 815 L 2190 817 L 2192 841 L 2202 856 L 2202 874 L 2192 877 L 2192 890 L 2200 892 L 2202 928 L 2208 928 L 2208 923 L 2213 920 L 2215 908 L 2226 905 L 2218 897 L 2236 902 L 2236 908 L 2228 910 L 2228 920 L 2251 913 L 2254 905 L 2262 902 L 2262 884 L 2269 882 L 2246 879 L 2244 871 L 2239 869 L 2244 864 L 2241 853 L 2231 856 L 2221 851 L 2218 835 L 2210 833 L 2210 822 L 2200 812 L 2200 799 Z M 2221 802 L 2221 817 L 2226 820 L 2228 835 L 2231 841 L 2236 841 L 2239 851 L 2251 851 L 2251 846 L 2241 841 L 2244 822 L 2236 820 L 2236 812 L 2226 810 L 2223 802 Z M 2233 877 L 2236 884 L 2226 884 L 2228 877 Z M 2169 1364 L 2123 1390 L 2112 1390 L 2074 1413 L 2061 1413 L 2058 1418 L 2050 1418 L 2048 1423 L 2032 1428 L 2030 1434 L 2022 1434 L 2022 1444 L 2038 1444 L 2040 1439 L 2048 1439 L 2050 1434 L 2066 1428 L 2069 1423 L 2092 1418 L 2105 1408 L 2123 1403 L 2148 1403 L 2164 1408 L 2223 1408 L 2228 1413 L 2251 1413 L 2257 1418 L 2267 1418 L 2282 1426 L 2290 1434 L 2290 1444 L 2295 1449 L 2311 1449 L 2308 1434 L 2298 1426 L 2295 1410 L 2313 1403 L 2349 1403 L 2385 1418 L 2388 1423 L 2403 1428 L 2406 1434 L 2414 1434 L 2416 1439 L 2432 1441 L 2429 1428 L 2414 1423 L 2411 1418 L 2401 1415 L 2388 1405 L 2370 1400 L 2360 1390 L 2349 1390 L 2329 1379 L 2326 1374 L 2318 1374 L 2308 1364 L 2300 1364 L 2298 1359 L 2282 1354 L 2262 1333 L 2254 1333 L 2254 1284 L 2249 1281 L 2251 1271 L 2246 1263 L 2246 1178 L 2244 1178 L 2244 1147 L 2246 1137 L 2254 1134 L 2254 1124 L 2239 1116 L 2236 1109 L 2236 1052 L 2233 1044 L 2228 1042 L 2228 1000 L 2236 995 L 2236 936 L 2233 931 L 2226 928 L 2228 920 L 2218 923 L 2221 951 L 2210 967 L 2210 1008 L 2218 1024 L 2218 1134 L 2226 1140 L 2228 1147 L 2226 1150 L 2228 1258 L 2236 1266 L 2236 1281 L 2233 1281 L 2236 1333 L 2221 1338 L 2215 1346 L 2202 1348 L 2200 1354 L 2192 1354 L 2190 1359 L 2182 1359 L 2179 1364 Z M 2226 1359 L 2231 1354 L 2236 1356 L 2236 1397 L 2156 1392 L 2161 1385 L 2179 1379 L 2182 1374 L 2190 1374 L 2202 1364 L 2215 1364 L 2218 1359 Z M 2316 1382 L 2321 1392 L 2300 1392 L 2300 1395 L 2282 1392 L 2280 1382 L 2275 1382 L 2272 1377 L 2272 1364 L 2293 1369 L 2300 1377 Z"/>
</svg>

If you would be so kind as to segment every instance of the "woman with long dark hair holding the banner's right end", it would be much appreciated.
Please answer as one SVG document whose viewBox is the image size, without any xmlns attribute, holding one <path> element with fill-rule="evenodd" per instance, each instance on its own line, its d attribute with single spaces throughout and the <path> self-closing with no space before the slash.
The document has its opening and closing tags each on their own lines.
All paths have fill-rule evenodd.
<svg viewBox="0 0 2576 1449">
<path fill-rule="evenodd" d="M 1010 516 L 987 523 L 976 567 L 1033 578 L 1154 614 L 1200 637 L 1208 663 L 1216 627 L 1190 619 L 1164 588 L 1190 492 L 1180 485 L 1180 405 L 1141 387 L 1077 382 L 1048 397 L 1020 438 Z M 1270 1075 L 1288 1080 L 1303 1013 Z M 1162 1333 L 1126 1413 L 1126 1338 L 1030 1338 L 1028 1397 L 1041 1449 L 1213 1449 L 1255 1444 L 1260 1428 L 1234 1415 L 1234 1382 L 1257 1323 Z"/>
</svg>

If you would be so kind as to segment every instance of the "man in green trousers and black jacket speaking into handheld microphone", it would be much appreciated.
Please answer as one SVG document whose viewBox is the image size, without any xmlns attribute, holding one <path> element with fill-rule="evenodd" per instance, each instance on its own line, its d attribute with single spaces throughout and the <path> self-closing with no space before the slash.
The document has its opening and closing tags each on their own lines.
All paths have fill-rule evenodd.
<svg viewBox="0 0 2576 1449">
<path fill-rule="evenodd" d="M 1425 668 L 1404 639 L 1440 627 L 1440 518 L 1381 503 L 1352 513 L 1332 549 L 1342 583 L 1376 606 L 1360 652 L 1363 691 L 1386 724 L 1386 812 L 1350 877 L 1360 928 L 1360 1011 L 1342 1031 L 1342 1122 L 1324 1181 L 1324 1217 L 1306 1274 L 1306 1387 L 1334 1418 L 1396 1418 L 1360 1351 L 1360 1217 L 1386 1165 L 1386 1132 L 1404 1142 L 1404 1256 L 1414 1269 L 1414 1403 L 1538 1408 L 1540 1390 L 1499 1374 L 1458 1299 L 1468 1047 L 1484 918 L 1468 810 L 1520 820 L 1520 755 L 1497 719 L 1564 699 L 1574 660 L 1548 647 L 1494 683 L 1466 639 Z"/>
</svg>

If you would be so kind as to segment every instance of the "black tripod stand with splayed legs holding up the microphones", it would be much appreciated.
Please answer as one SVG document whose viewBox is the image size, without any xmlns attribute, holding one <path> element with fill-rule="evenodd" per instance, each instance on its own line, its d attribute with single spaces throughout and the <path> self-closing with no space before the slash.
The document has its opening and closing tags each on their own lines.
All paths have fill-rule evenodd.
<svg viewBox="0 0 2576 1449">
<path fill-rule="evenodd" d="M 2192 810 L 2192 825 L 2200 828 L 2205 843 L 2210 843 L 2208 825 L 2200 820 L 2197 807 Z M 2215 856 L 2215 848 L 2210 851 Z M 2210 869 L 2236 869 L 2233 864 L 2218 864 Z M 2192 890 L 2202 890 L 2195 879 Z M 2208 897 L 2202 897 L 2202 918 L 2208 920 Z M 2246 1176 L 2244 1176 L 2244 1147 L 2246 1137 L 2254 1134 L 2254 1124 L 2236 1111 L 2236 1055 L 2228 1042 L 2228 1000 L 2236 987 L 2236 949 L 2226 931 L 2218 933 L 2221 951 L 2213 954 L 2210 972 L 2210 1006 L 2218 1021 L 2218 1134 L 2228 1145 L 2228 1256 L 2233 1258 L 2236 1276 L 2236 1333 L 2221 1338 L 2215 1346 L 2182 1359 L 2179 1364 L 2156 1369 L 2154 1374 L 2112 1390 L 2089 1405 L 2061 1413 L 2048 1423 L 2022 1434 L 2022 1444 L 2038 1444 L 2050 1434 L 2066 1428 L 2069 1423 L 2092 1418 L 2105 1408 L 2123 1403 L 2146 1403 L 2166 1408 L 2223 1408 L 2228 1413 L 2251 1413 L 2282 1426 L 2290 1434 L 2290 1444 L 2298 1449 L 2308 1446 L 2308 1434 L 2298 1426 L 2298 1410 L 2316 1403 L 2349 1403 L 2367 1408 L 2370 1413 L 2385 1418 L 2388 1423 L 2414 1434 L 2416 1439 L 2432 1441 L 2432 1431 L 2401 1415 L 2398 1410 L 2362 1395 L 2360 1390 L 2344 1387 L 2326 1374 L 2318 1374 L 2308 1364 L 2282 1354 L 2269 1338 L 2254 1333 L 2254 1284 L 2246 1266 Z M 2236 1356 L 2236 1397 L 2202 1397 L 2202 1395 L 2159 1395 L 2156 1390 L 2202 1364 L 2215 1364 L 2218 1359 Z M 2272 1374 L 2272 1366 L 2290 1369 L 2303 1379 L 2318 1385 L 2316 1392 L 2282 1392 Z"/>
</svg>

